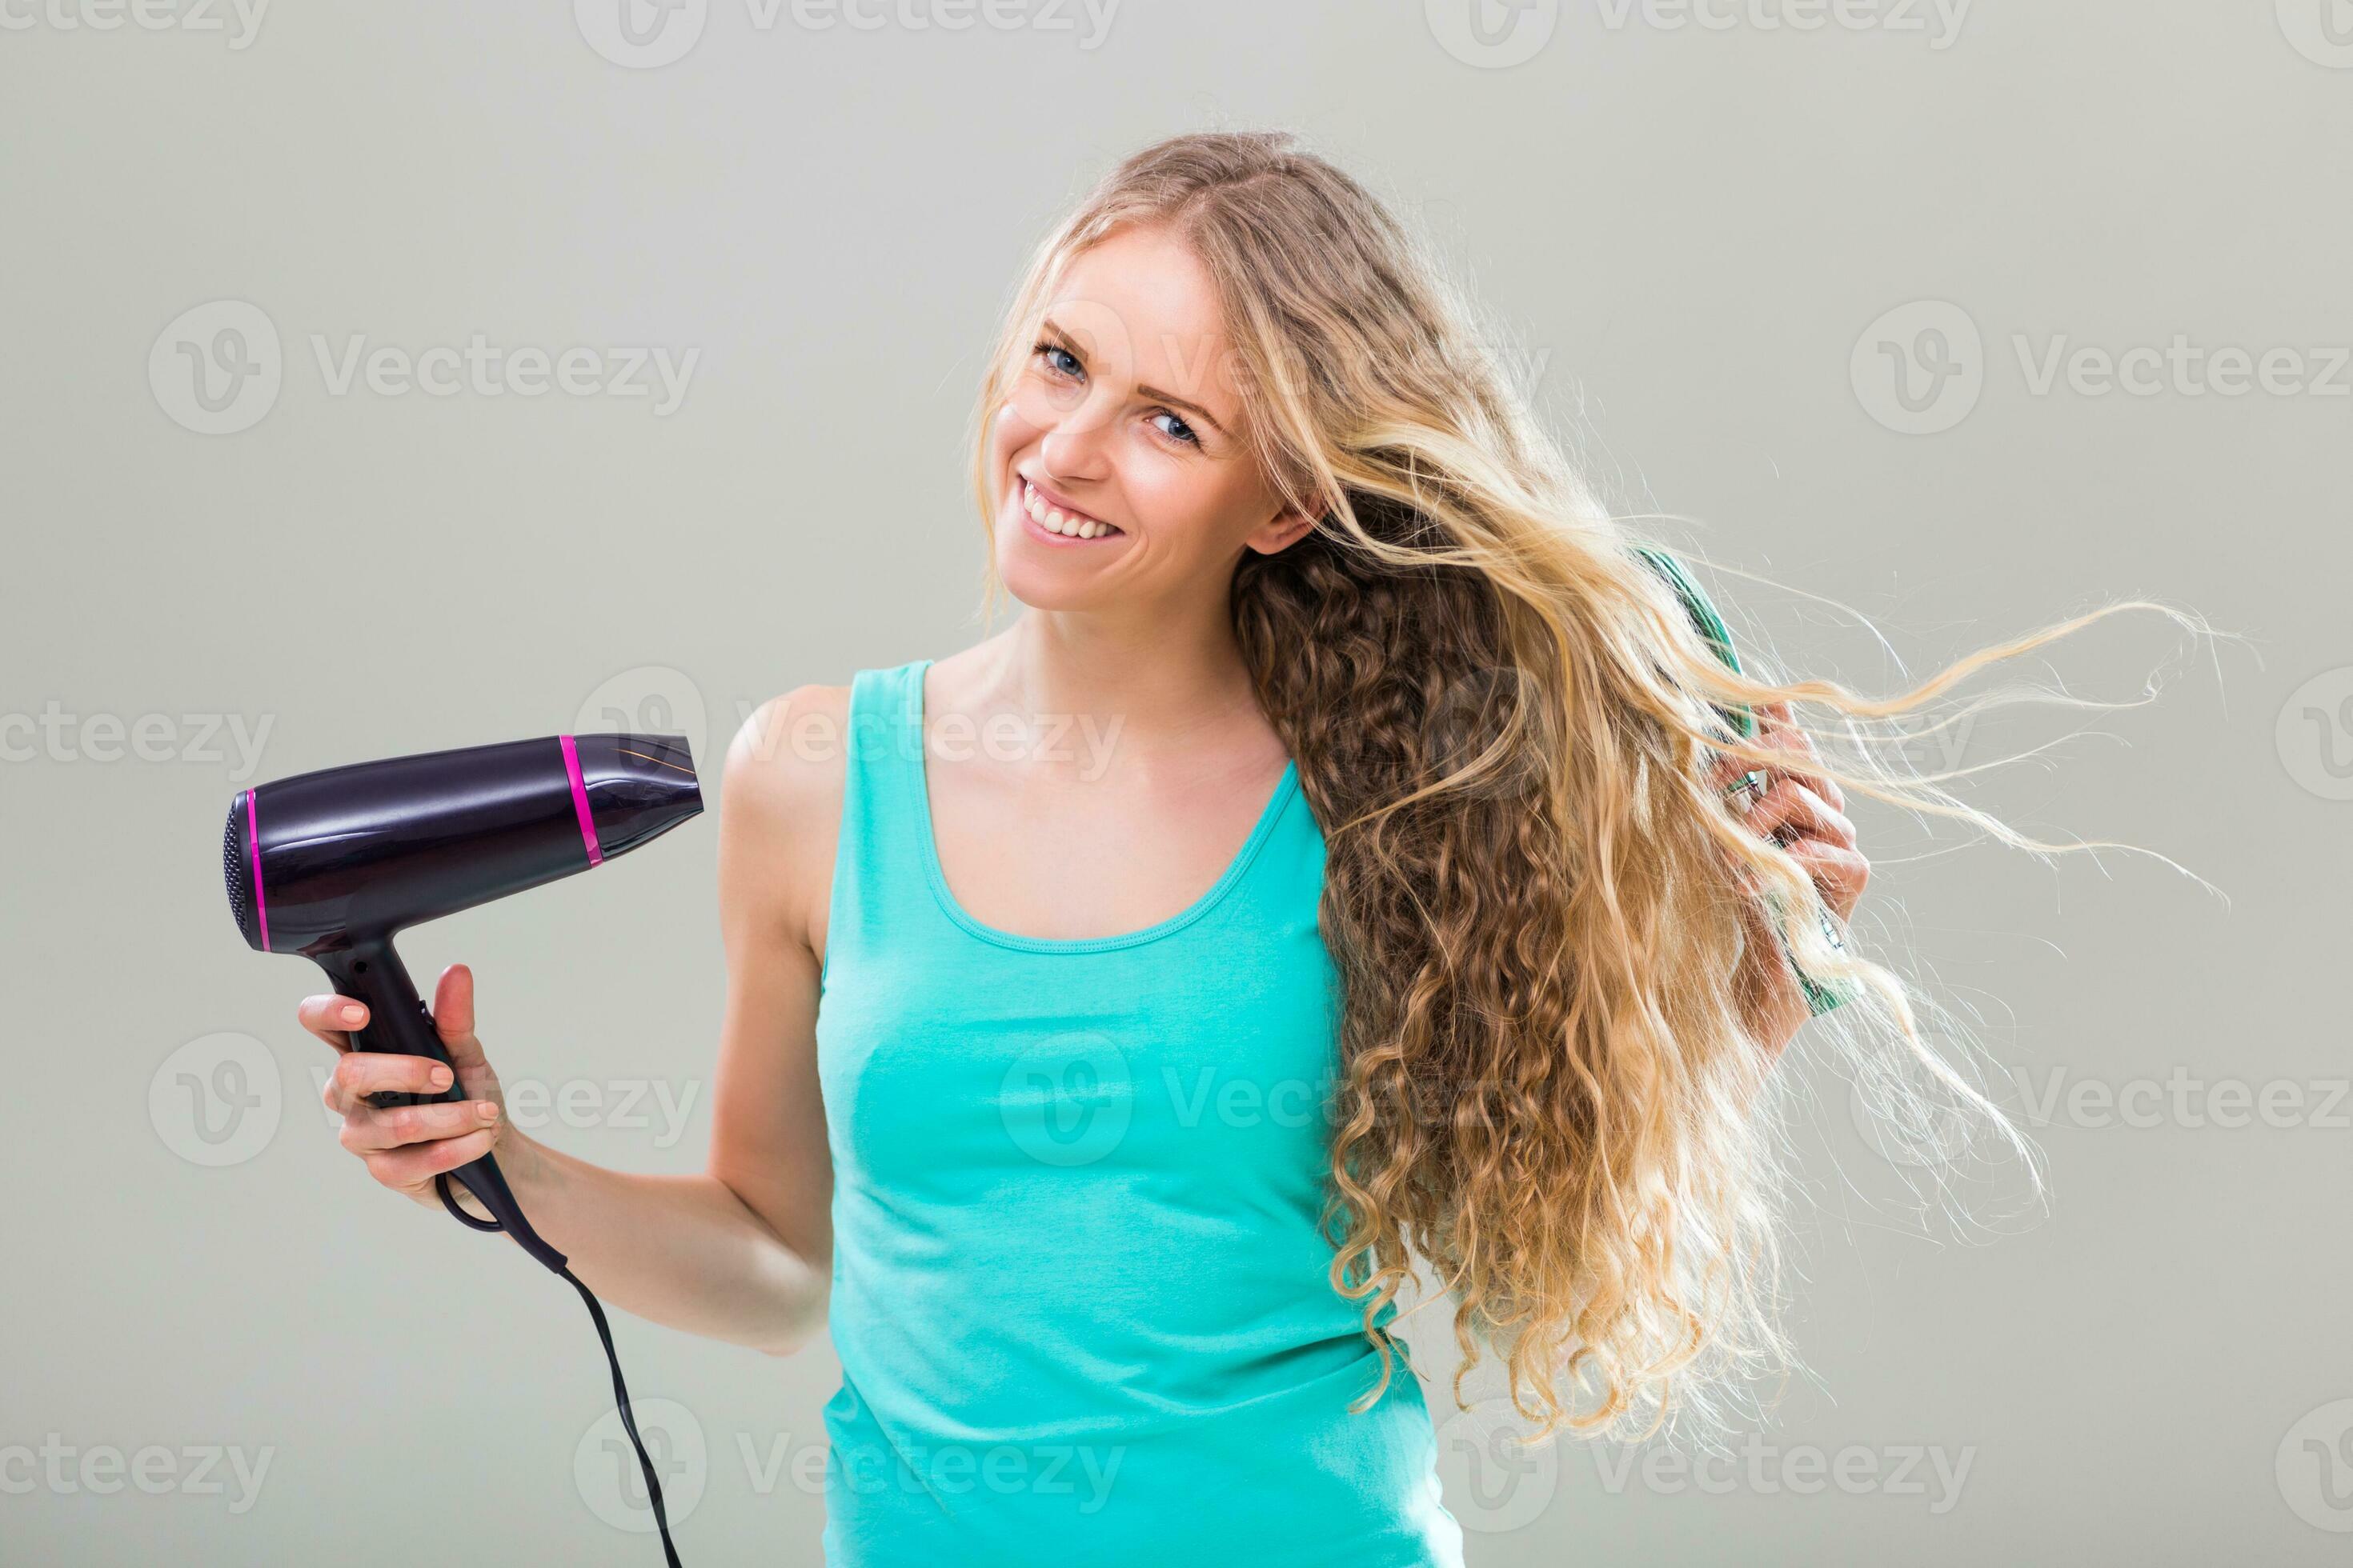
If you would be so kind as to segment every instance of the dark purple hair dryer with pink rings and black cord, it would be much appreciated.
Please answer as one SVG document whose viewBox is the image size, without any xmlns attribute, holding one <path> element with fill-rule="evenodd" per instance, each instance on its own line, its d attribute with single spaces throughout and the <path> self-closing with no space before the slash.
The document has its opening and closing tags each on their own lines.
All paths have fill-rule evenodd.
<svg viewBox="0 0 2353 1568">
<path fill-rule="evenodd" d="M 322 769 L 245 790 L 228 806 L 221 870 L 228 910 L 256 952 L 299 952 L 344 997 L 367 1004 L 360 1051 L 447 1063 L 433 1016 L 393 952 L 393 936 L 424 919 L 471 910 L 602 865 L 704 809 L 694 757 L 678 736 L 546 736 Z M 461 1100 L 369 1095 L 372 1105 Z M 459 1208 L 456 1180 L 494 1218 Z M 612 1331 L 595 1295 L 541 1241 L 492 1157 L 435 1178 L 442 1206 L 475 1229 L 504 1229 L 522 1251 L 572 1281 L 588 1302 L 621 1420 L 645 1467 L 668 1561 L 671 1526 L 621 1385 Z"/>
</svg>

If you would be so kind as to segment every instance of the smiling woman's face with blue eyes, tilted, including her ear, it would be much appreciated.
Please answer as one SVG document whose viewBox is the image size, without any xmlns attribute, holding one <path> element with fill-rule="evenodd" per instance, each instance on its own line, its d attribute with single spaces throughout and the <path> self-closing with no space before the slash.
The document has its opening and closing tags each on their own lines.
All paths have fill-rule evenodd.
<svg viewBox="0 0 2353 1568">
<path fill-rule="evenodd" d="M 1306 534 L 1245 442 L 1209 273 L 1158 226 L 1071 261 L 991 425 L 1005 588 L 1035 609 L 1226 592 Z"/>
</svg>

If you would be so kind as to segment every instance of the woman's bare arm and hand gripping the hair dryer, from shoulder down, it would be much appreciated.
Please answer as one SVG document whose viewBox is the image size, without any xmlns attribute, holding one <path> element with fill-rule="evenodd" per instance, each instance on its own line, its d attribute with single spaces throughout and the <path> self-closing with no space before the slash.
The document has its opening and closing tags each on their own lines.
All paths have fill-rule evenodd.
<svg viewBox="0 0 2353 1568">
<path fill-rule="evenodd" d="M 840 820 L 840 748 L 798 755 L 784 717 L 840 712 L 842 689 L 802 686 L 769 703 L 727 752 L 720 813 L 720 929 L 727 1013 L 701 1175 L 633 1175 L 574 1159 L 508 1126 L 499 1079 L 475 1039 L 473 973 L 452 964 L 433 1018 L 466 1100 L 372 1110 L 381 1088 L 431 1091 L 438 1063 L 351 1051 L 341 997 L 311 997 L 304 1027 L 344 1051 L 327 1105 L 344 1147 L 419 1204 L 433 1175 L 499 1154 L 532 1225 L 602 1300 L 687 1333 L 800 1349 L 826 1321 L 833 1166 L 816 1086 L 816 950 Z M 835 729 L 833 733 L 840 733 Z M 473 1208 L 468 1204 L 468 1208 Z"/>
</svg>

